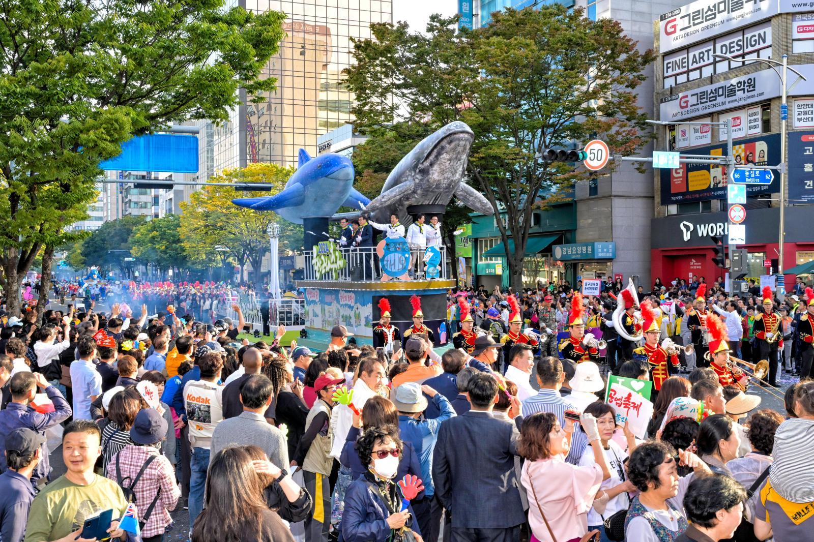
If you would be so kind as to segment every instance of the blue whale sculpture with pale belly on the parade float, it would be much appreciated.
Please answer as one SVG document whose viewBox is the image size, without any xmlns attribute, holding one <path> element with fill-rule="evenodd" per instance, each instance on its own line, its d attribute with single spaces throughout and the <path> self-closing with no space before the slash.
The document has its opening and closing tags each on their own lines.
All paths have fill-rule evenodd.
<svg viewBox="0 0 814 542">
<path fill-rule="evenodd" d="M 370 203 L 353 188 L 353 164 L 335 153 L 314 158 L 300 149 L 294 175 L 279 194 L 260 198 L 233 199 L 232 203 L 256 211 L 274 211 L 289 222 L 302 224 L 304 217 L 331 216 L 342 206 L 364 208 Z"/>
</svg>

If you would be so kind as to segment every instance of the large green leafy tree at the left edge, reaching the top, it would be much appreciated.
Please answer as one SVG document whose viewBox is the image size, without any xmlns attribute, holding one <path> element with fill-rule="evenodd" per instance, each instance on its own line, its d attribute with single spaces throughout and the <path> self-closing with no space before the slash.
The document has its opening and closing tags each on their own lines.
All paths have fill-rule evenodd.
<svg viewBox="0 0 814 542">
<path fill-rule="evenodd" d="M 59 213 L 85 210 L 98 164 L 173 122 L 228 119 L 239 88 L 274 90 L 262 69 L 285 15 L 224 0 L 7 0 L 0 24 L 0 286 L 10 313 Z"/>
</svg>

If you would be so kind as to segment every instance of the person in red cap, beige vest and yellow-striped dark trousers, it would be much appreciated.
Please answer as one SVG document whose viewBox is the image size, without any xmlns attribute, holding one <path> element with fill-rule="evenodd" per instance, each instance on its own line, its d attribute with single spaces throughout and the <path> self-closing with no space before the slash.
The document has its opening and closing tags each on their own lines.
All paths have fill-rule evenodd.
<svg viewBox="0 0 814 542">
<path fill-rule="evenodd" d="M 344 326 L 336 326 L 344 327 Z M 334 329 L 336 329 L 336 327 Z M 305 490 L 313 499 L 313 509 L 305 518 L 305 540 L 327 542 L 330 527 L 330 483 L 328 477 L 334 466 L 330 456 L 330 417 L 334 408 L 334 392 L 345 379 L 339 369 L 331 367 L 317 377 L 313 389 L 317 400 L 305 418 L 305 432 L 294 452 L 291 465 L 302 466 Z"/>
</svg>

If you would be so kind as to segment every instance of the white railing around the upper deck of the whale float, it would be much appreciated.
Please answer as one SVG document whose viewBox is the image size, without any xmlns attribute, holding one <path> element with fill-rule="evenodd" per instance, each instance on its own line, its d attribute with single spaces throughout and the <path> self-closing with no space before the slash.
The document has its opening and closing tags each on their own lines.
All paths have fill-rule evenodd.
<svg viewBox="0 0 814 542">
<path fill-rule="evenodd" d="M 441 260 L 439 263 L 439 276 L 438 278 L 449 278 L 449 269 L 447 269 L 447 250 L 443 245 L 436 247 L 441 253 Z M 379 261 L 379 254 L 376 252 L 376 247 L 358 247 L 358 248 L 340 248 L 339 254 L 344 265 L 336 271 L 327 271 L 325 273 L 317 273 L 314 269 L 313 251 L 305 251 L 305 269 L 304 278 L 307 281 L 352 281 L 352 282 L 374 282 L 381 280 L 382 267 Z M 414 272 L 414 280 L 426 280 L 425 264 L 423 262 L 424 250 L 410 249 L 410 266 Z M 384 256 L 393 261 L 392 268 L 402 267 L 404 256 L 398 253 L 392 253 Z M 418 270 L 416 270 L 418 260 Z"/>
</svg>

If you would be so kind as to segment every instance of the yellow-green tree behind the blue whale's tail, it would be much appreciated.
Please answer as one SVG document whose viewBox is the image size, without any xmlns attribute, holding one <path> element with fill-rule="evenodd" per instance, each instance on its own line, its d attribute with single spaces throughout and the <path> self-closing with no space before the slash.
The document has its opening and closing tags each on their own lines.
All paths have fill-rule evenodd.
<svg viewBox="0 0 814 542">
<path fill-rule="evenodd" d="M 281 191 L 295 168 L 278 164 L 249 164 L 246 168 L 224 171 L 212 177 L 212 182 L 263 183 L 273 185 L 271 194 Z M 228 251 L 240 267 L 241 275 L 247 263 L 252 264 L 254 282 L 260 284 L 263 257 L 269 252 L 269 225 L 278 224 L 289 241 L 302 240 L 302 226 L 291 225 L 276 212 L 255 211 L 238 207 L 232 199 L 268 196 L 269 192 L 234 190 L 230 186 L 205 186 L 193 192 L 190 201 L 182 202 L 182 244 L 193 261 L 217 258 L 218 251 Z M 299 231 L 299 235 L 292 234 Z M 284 250 L 281 238 L 281 251 Z"/>
</svg>

